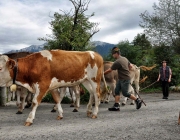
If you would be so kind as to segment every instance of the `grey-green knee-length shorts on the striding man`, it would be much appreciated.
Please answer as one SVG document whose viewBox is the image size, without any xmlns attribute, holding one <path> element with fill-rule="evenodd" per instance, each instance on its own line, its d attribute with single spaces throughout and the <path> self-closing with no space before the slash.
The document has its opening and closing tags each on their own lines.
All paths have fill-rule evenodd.
<svg viewBox="0 0 180 140">
<path fill-rule="evenodd" d="M 115 95 L 119 96 L 120 92 L 122 91 L 123 96 L 129 98 L 131 96 L 131 94 L 128 92 L 129 85 L 130 80 L 118 80 L 118 82 L 116 83 Z"/>
</svg>

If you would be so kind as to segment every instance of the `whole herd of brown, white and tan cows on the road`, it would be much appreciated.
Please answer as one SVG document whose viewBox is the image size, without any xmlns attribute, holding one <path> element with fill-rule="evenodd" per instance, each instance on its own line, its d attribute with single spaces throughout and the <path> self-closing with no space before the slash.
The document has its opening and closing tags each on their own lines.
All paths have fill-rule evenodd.
<svg viewBox="0 0 180 140">
<path fill-rule="evenodd" d="M 90 94 L 87 116 L 94 119 L 97 118 L 100 102 L 108 103 L 110 96 L 114 96 L 118 80 L 117 71 L 107 75 L 103 73 L 112 64 L 113 62 L 103 61 L 103 58 L 93 51 L 43 50 L 26 54 L 21 58 L 0 55 L 0 86 L 17 85 L 17 114 L 22 114 L 23 109 L 30 107 L 32 102 L 32 110 L 25 121 L 25 126 L 33 123 L 36 109 L 48 92 L 55 101 L 52 112 L 58 112 L 58 120 L 63 118 L 61 101 L 67 87 L 70 88 L 70 93 L 75 93 L 75 98 L 72 97 L 73 111 L 77 112 L 80 106 L 80 84 Z M 141 67 L 133 65 L 130 71 L 131 84 L 134 83 L 137 93 L 139 93 L 140 69 Z M 129 92 L 136 93 L 132 86 L 129 86 Z M 125 105 L 126 101 L 127 98 L 124 98 L 122 105 Z M 131 104 L 134 104 L 133 101 Z"/>
</svg>

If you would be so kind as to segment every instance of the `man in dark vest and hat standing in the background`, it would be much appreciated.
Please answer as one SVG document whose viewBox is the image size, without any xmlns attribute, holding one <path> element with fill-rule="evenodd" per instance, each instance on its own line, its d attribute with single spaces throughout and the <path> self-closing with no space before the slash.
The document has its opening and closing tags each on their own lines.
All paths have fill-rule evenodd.
<svg viewBox="0 0 180 140">
<path fill-rule="evenodd" d="M 166 65 L 166 61 L 162 61 L 162 67 L 159 69 L 159 76 L 157 81 L 161 80 L 163 99 L 168 99 L 169 96 L 169 83 L 171 82 L 172 71 Z"/>
</svg>

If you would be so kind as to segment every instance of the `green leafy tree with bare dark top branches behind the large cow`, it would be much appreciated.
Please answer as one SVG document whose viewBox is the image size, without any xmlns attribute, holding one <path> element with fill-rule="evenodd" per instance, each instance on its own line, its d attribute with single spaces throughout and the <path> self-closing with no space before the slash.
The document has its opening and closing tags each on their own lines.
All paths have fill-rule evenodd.
<svg viewBox="0 0 180 140">
<path fill-rule="evenodd" d="M 70 0 L 70 2 L 74 6 L 74 11 L 61 10 L 62 14 L 55 12 L 50 22 L 52 35 L 39 38 L 47 42 L 45 49 L 85 50 L 91 37 L 99 31 L 98 23 L 89 21 L 94 13 L 85 15 L 90 0 Z"/>
</svg>

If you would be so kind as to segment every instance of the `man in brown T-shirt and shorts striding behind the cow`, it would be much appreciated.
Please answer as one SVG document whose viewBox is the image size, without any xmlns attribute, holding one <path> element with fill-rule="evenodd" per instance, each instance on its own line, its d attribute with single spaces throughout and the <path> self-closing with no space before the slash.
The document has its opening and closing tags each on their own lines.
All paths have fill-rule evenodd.
<svg viewBox="0 0 180 140">
<path fill-rule="evenodd" d="M 118 71 L 118 82 L 116 83 L 115 88 L 115 104 L 112 108 L 109 108 L 109 111 L 120 111 L 120 91 L 122 91 L 123 96 L 128 97 L 132 100 L 135 100 L 136 109 L 141 108 L 142 101 L 139 98 L 136 98 L 133 94 L 128 92 L 130 85 L 130 69 L 132 64 L 129 60 L 120 55 L 120 50 L 118 47 L 112 49 L 112 55 L 116 59 L 111 68 L 107 69 L 104 74 L 111 72 L 112 70 Z"/>
</svg>

